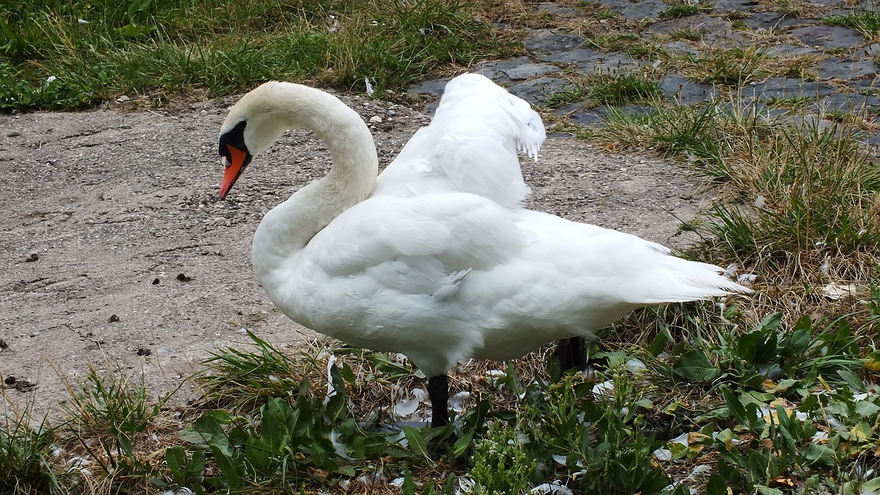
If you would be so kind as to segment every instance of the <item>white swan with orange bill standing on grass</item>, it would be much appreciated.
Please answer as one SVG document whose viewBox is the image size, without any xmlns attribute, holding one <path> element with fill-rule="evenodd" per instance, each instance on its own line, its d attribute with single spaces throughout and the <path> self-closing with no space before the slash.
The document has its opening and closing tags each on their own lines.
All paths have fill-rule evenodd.
<svg viewBox="0 0 880 495">
<path fill-rule="evenodd" d="M 517 149 L 537 157 L 544 126 L 486 77 L 447 84 L 434 120 L 378 180 L 355 111 L 324 91 L 263 84 L 221 127 L 221 198 L 291 128 L 324 140 L 334 165 L 266 215 L 254 271 L 297 323 L 406 354 L 430 377 L 432 426 L 448 422 L 445 374 L 458 360 L 510 360 L 569 338 L 563 357 L 583 353 L 584 337 L 633 309 L 751 292 L 660 244 L 522 207 Z"/>
</svg>

